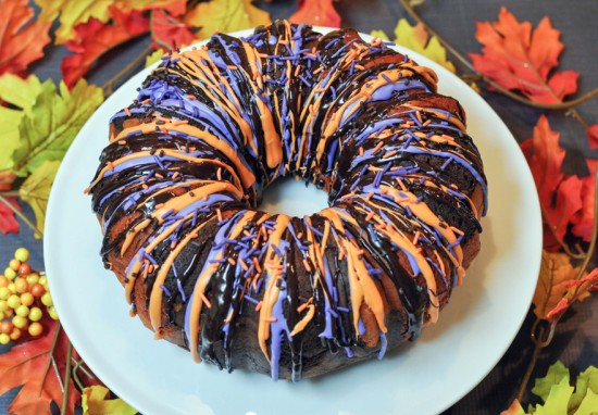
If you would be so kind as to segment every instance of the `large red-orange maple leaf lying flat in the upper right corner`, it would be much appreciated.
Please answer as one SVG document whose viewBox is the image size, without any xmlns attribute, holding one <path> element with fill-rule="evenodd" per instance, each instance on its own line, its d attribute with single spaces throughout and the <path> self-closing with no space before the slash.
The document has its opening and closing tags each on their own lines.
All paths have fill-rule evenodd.
<svg viewBox="0 0 598 415">
<path fill-rule="evenodd" d="M 500 86 L 544 103 L 562 102 L 577 90 L 577 72 L 549 76 L 559 64 L 563 43 L 548 17 L 532 29 L 530 22 L 520 23 L 501 8 L 498 22 L 477 22 L 476 27 L 475 38 L 484 48 L 482 54 L 470 53 L 473 65 Z"/>
</svg>

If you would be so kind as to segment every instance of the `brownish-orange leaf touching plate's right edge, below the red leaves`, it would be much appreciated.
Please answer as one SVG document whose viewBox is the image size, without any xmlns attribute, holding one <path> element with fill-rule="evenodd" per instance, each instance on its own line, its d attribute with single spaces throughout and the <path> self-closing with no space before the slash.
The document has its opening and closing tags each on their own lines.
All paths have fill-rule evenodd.
<svg viewBox="0 0 598 415">
<path fill-rule="evenodd" d="M 540 275 L 532 300 L 536 317 L 553 320 L 566 310 L 575 291 L 570 282 L 575 280 L 578 272 L 580 268 L 573 267 L 568 254 L 543 250 Z M 584 300 L 587 295 L 587 291 L 580 291 L 576 300 Z M 561 302 L 563 298 L 566 304 Z M 563 305 L 566 306 L 563 309 Z"/>
</svg>

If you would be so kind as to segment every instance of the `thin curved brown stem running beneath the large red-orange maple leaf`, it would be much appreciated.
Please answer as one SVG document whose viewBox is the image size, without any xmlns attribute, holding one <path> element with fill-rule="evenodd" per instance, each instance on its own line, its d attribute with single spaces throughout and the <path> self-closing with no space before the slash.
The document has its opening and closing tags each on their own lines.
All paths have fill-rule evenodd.
<svg viewBox="0 0 598 415">
<path fill-rule="evenodd" d="M 520 96 L 519 93 L 514 93 L 510 91 L 507 88 L 503 88 L 499 84 L 495 83 L 493 79 L 488 78 L 484 74 L 479 73 L 472 63 L 465 59 L 461 52 L 459 52 L 456 48 L 453 48 L 447 40 L 445 40 L 436 30 L 434 30 L 419 14 L 415 12 L 415 9 L 410 4 L 409 0 L 400 0 L 401 5 L 404 8 L 407 13 L 418 23 L 422 24 L 425 29 L 432 35 L 435 36 L 438 41 L 459 61 L 461 62 L 468 70 L 472 71 L 475 75 L 477 75 L 479 80 L 490 85 L 496 90 L 498 90 L 500 93 L 520 102 L 528 106 L 534 106 L 543 110 L 568 110 L 572 109 L 574 106 L 577 106 L 578 104 L 588 101 L 595 97 L 598 97 L 598 88 L 595 88 L 587 92 L 586 95 L 578 97 L 573 100 L 558 102 L 558 103 L 544 103 L 544 102 L 535 102 L 527 98 L 524 98 Z"/>
</svg>

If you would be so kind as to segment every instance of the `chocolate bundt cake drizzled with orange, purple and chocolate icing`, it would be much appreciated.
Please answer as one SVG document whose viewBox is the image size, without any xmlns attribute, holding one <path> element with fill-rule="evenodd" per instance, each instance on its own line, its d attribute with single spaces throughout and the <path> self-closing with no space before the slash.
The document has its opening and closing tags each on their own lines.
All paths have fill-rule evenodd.
<svg viewBox="0 0 598 415">
<path fill-rule="evenodd" d="M 416 339 L 487 200 L 465 113 L 436 87 L 379 39 L 286 21 L 164 56 L 88 189 L 133 313 L 198 362 L 294 381 Z M 284 176 L 329 208 L 260 211 Z"/>
</svg>

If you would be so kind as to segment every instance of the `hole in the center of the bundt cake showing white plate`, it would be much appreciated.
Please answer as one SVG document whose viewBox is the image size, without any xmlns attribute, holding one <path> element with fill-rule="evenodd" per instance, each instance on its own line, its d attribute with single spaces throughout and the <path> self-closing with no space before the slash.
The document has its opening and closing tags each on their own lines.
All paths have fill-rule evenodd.
<svg viewBox="0 0 598 415">
<path fill-rule="evenodd" d="M 271 214 L 284 213 L 289 216 L 303 217 L 328 208 L 328 194 L 313 184 L 306 187 L 306 181 L 294 177 L 276 179 L 264 190 L 259 209 Z"/>
</svg>

